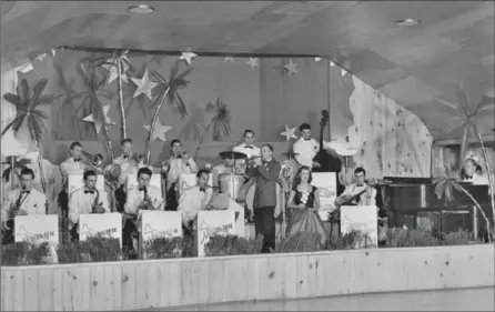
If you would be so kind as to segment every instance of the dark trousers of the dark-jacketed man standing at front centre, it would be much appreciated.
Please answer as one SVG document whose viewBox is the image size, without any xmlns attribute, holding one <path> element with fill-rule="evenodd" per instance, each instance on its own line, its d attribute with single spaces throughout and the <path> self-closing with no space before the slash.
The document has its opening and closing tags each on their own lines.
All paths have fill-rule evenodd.
<svg viewBox="0 0 495 312">
<path fill-rule="evenodd" d="M 275 250 L 275 208 L 254 208 L 254 229 L 257 235 L 263 235 L 262 252 Z"/>
</svg>

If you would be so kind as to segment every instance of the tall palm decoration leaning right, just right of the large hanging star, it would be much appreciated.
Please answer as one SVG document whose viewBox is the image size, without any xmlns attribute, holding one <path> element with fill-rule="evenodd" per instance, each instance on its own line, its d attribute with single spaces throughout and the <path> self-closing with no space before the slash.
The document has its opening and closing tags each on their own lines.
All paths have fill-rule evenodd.
<svg viewBox="0 0 495 312">
<path fill-rule="evenodd" d="M 150 163 L 151 158 L 151 140 L 154 133 L 154 127 L 156 124 L 158 118 L 160 115 L 160 109 L 162 108 L 164 102 L 169 102 L 169 104 L 179 110 L 179 113 L 182 118 L 188 115 L 188 110 L 185 108 L 184 101 L 179 94 L 179 90 L 188 88 L 189 80 L 185 78 L 191 73 L 192 68 L 188 68 L 182 73 L 179 73 L 180 61 L 176 61 L 172 69 L 170 70 L 169 80 L 163 78 L 158 71 L 152 71 L 151 74 L 158 80 L 160 83 L 156 88 L 159 90 L 159 94 L 154 100 L 152 107 L 154 107 L 153 118 L 151 119 L 150 133 L 148 134 L 147 140 L 147 163 Z"/>
</svg>

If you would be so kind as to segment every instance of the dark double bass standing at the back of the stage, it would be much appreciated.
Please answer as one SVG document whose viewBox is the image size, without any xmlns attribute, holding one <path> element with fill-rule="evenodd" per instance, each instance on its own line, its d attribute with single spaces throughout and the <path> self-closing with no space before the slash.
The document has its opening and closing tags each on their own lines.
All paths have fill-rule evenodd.
<svg viewBox="0 0 495 312">
<path fill-rule="evenodd" d="M 342 161 L 337 155 L 332 154 L 323 148 L 323 133 L 330 123 L 329 110 L 322 110 L 320 121 L 320 150 L 313 158 L 313 161 L 320 163 L 319 168 L 313 168 L 313 172 L 335 172 L 337 175 L 337 194 L 341 194 L 345 187 L 341 183 L 340 173 L 342 171 Z"/>
</svg>

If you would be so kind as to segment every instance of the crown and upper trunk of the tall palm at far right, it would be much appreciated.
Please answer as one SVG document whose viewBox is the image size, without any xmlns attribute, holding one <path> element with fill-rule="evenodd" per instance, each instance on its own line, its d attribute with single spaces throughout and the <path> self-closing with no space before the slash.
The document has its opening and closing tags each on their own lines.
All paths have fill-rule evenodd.
<svg viewBox="0 0 495 312">
<path fill-rule="evenodd" d="M 493 121 L 493 112 L 487 112 L 495 108 L 495 101 L 482 101 L 482 97 L 476 101 L 472 101 L 463 83 L 456 85 L 456 93 L 457 104 L 440 98 L 436 100 L 449 108 L 454 114 L 445 121 L 443 128 L 445 129 L 445 134 L 462 133 L 461 158 L 464 158 L 472 134 L 474 134 L 475 139 L 479 139 L 478 129 L 482 123 L 481 121 L 486 118 L 491 118 Z M 487 95 L 485 97 L 488 98 Z M 462 165 L 459 167 L 461 170 Z"/>
</svg>

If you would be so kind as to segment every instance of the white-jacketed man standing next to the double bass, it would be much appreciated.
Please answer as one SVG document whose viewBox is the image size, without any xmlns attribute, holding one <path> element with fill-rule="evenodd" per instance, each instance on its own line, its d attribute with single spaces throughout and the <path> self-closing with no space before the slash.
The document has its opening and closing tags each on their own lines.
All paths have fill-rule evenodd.
<svg viewBox="0 0 495 312">
<path fill-rule="evenodd" d="M 313 158 L 320 150 L 320 143 L 311 138 L 311 125 L 303 123 L 299 131 L 301 132 L 301 138 L 293 145 L 295 161 L 300 167 L 319 168 L 321 164 L 313 161 Z"/>
</svg>

